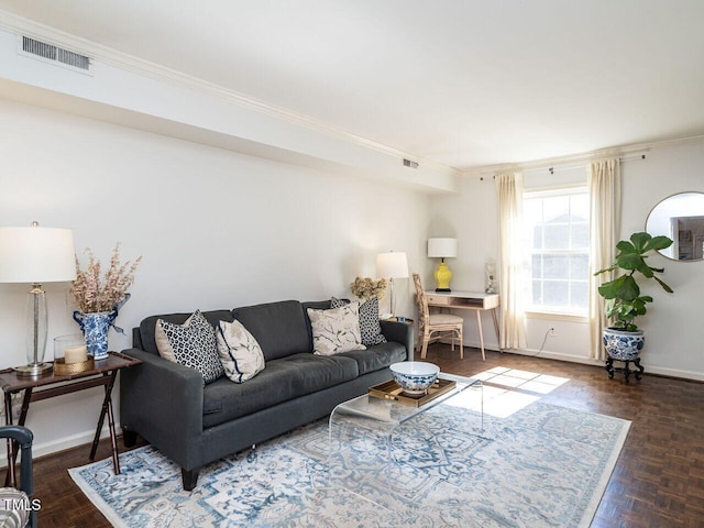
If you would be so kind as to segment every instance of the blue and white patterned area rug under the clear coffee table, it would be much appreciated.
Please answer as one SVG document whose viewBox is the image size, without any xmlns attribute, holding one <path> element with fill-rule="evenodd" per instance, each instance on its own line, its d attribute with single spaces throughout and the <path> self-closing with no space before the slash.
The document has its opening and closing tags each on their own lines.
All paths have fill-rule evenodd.
<svg viewBox="0 0 704 528">
<path fill-rule="evenodd" d="M 587 527 L 629 421 L 534 403 L 508 417 L 439 406 L 422 439 L 360 438 L 329 472 L 326 420 L 204 468 L 198 487 L 152 447 L 70 470 L 117 527 Z M 428 440 L 430 439 L 430 440 Z M 333 442 L 334 443 L 334 442 Z M 334 474 L 332 474 L 334 473 Z"/>
</svg>

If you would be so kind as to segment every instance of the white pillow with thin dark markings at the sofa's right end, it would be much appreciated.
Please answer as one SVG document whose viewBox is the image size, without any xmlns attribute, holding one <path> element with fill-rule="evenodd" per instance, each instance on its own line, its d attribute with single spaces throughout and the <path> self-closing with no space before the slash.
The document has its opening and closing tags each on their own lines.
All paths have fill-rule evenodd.
<svg viewBox="0 0 704 528">
<path fill-rule="evenodd" d="M 314 353 L 334 355 L 351 350 L 365 350 L 360 331 L 360 302 L 330 310 L 308 308 L 312 329 Z"/>
</svg>

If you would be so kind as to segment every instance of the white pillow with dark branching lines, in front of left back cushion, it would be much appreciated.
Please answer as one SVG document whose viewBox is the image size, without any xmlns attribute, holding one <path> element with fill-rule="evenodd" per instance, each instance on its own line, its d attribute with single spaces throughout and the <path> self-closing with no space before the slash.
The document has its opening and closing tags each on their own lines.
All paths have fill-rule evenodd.
<svg viewBox="0 0 704 528">
<path fill-rule="evenodd" d="M 218 324 L 218 353 L 226 375 L 244 383 L 264 370 L 264 353 L 244 324 L 234 320 Z"/>
</svg>

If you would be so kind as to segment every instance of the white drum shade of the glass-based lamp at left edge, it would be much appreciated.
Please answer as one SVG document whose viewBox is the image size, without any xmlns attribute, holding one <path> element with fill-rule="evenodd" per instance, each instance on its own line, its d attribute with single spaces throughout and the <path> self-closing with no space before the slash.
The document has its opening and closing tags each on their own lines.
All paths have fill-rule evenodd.
<svg viewBox="0 0 704 528">
<path fill-rule="evenodd" d="M 0 228 L 0 283 L 61 283 L 76 278 L 70 229 Z"/>
</svg>

